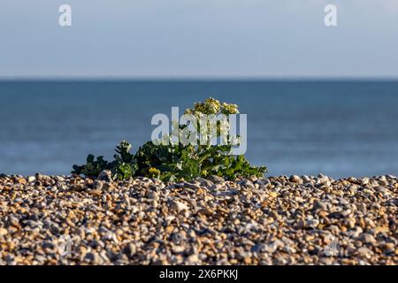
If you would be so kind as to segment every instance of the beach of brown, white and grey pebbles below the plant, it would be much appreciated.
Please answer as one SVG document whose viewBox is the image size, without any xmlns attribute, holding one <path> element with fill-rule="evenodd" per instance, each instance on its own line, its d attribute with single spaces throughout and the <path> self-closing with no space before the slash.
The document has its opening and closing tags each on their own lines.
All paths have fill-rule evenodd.
<svg viewBox="0 0 398 283">
<path fill-rule="evenodd" d="M 0 175 L 0 264 L 398 264 L 398 180 Z"/>
</svg>

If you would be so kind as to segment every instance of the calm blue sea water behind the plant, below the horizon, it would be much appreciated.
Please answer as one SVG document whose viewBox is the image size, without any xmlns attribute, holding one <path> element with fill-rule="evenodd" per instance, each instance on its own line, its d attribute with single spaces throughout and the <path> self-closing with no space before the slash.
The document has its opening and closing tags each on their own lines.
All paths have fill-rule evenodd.
<svg viewBox="0 0 398 283">
<path fill-rule="evenodd" d="M 398 81 L 0 81 L 0 173 L 67 174 L 88 153 L 150 139 L 152 115 L 213 96 L 248 114 L 269 175 L 396 174 Z"/>
</svg>

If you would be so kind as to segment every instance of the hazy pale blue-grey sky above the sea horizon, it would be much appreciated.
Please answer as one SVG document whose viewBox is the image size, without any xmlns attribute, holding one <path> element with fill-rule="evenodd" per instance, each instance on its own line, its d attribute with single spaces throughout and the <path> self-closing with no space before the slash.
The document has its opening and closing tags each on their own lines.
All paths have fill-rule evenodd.
<svg viewBox="0 0 398 283">
<path fill-rule="evenodd" d="M 398 78 L 398 0 L 1 0 L 0 77 L 49 76 Z"/>
</svg>

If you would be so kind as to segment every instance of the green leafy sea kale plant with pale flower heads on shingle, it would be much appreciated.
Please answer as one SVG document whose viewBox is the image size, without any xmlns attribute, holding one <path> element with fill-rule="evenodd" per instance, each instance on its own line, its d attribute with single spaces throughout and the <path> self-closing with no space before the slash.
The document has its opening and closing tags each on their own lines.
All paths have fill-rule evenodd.
<svg viewBox="0 0 398 283">
<path fill-rule="evenodd" d="M 229 115 L 237 114 L 239 111 L 236 104 L 219 103 L 216 99 L 208 98 L 203 103 L 195 103 L 194 108 L 187 109 L 185 113 L 200 119 L 203 115 Z M 206 127 L 206 131 L 207 128 L 210 127 Z M 226 135 L 228 129 L 229 125 L 225 121 L 218 123 L 216 135 Z M 73 165 L 72 173 L 96 178 L 103 170 L 110 170 L 112 177 L 119 180 L 145 176 L 174 181 L 205 178 L 210 175 L 233 180 L 237 177 L 261 177 L 267 172 L 264 166 L 250 165 L 243 155 L 231 155 L 232 147 L 233 144 L 214 145 L 210 142 L 204 145 L 203 143 L 183 145 L 180 142 L 146 142 L 135 154 L 132 154 L 131 144 L 123 141 L 115 149 L 113 161 L 108 162 L 103 157 L 95 158 L 93 155 L 88 155 L 87 163 L 80 166 Z"/>
</svg>

